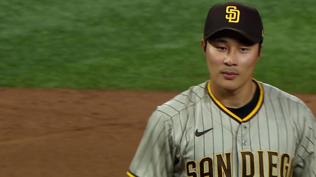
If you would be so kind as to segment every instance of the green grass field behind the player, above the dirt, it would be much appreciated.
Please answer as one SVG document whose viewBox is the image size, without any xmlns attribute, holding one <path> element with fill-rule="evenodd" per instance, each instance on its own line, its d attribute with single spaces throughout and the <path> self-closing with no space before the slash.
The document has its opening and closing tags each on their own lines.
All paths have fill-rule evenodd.
<svg viewBox="0 0 316 177">
<path fill-rule="evenodd" d="M 1 1 L 0 87 L 187 89 L 208 79 L 200 39 L 217 2 Z M 240 2 L 264 22 L 254 77 L 316 93 L 316 1 Z"/>
</svg>

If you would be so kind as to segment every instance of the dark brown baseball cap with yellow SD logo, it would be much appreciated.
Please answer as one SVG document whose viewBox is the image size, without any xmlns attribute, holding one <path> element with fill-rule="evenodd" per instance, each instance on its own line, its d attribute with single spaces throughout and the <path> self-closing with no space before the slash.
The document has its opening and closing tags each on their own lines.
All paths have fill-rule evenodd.
<svg viewBox="0 0 316 177">
<path fill-rule="evenodd" d="M 263 40 L 263 24 L 257 9 L 238 2 L 211 7 L 204 26 L 204 40 L 219 31 L 233 30 L 254 43 Z"/>
</svg>

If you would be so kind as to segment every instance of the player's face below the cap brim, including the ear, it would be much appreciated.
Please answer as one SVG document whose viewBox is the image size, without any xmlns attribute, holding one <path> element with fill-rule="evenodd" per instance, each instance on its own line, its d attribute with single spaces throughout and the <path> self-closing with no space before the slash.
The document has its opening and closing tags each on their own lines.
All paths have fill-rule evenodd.
<svg viewBox="0 0 316 177">
<path fill-rule="evenodd" d="M 206 43 L 201 42 L 203 49 Z M 251 43 L 239 33 L 226 31 L 208 40 L 204 54 L 212 84 L 234 91 L 251 82 L 260 58 L 259 43 Z"/>
</svg>

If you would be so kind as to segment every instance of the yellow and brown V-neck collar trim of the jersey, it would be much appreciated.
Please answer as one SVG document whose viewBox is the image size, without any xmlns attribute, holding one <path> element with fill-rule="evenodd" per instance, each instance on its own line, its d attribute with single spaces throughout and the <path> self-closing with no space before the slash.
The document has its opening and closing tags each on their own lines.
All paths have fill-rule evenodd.
<svg viewBox="0 0 316 177">
<path fill-rule="evenodd" d="M 238 120 L 239 122 L 246 122 L 248 121 L 251 117 L 253 117 L 258 110 L 260 109 L 262 103 L 263 103 L 263 88 L 262 85 L 254 78 L 252 78 L 252 80 L 254 80 L 256 83 L 258 83 L 259 89 L 260 89 L 260 96 L 259 96 L 259 100 L 258 103 L 256 105 L 256 107 L 245 117 L 245 118 L 240 118 L 238 117 L 236 114 L 234 114 L 233 112 L 229 111 L 224 105 L 222 105 L 221 102 L 219 102 L 216 97 L 213 95 L 212 91 L 211 91 L 211 81 L 209 81 L 207 83 L 207 90 L 211 96 L 211 98 L 215 101 L 215 103 L 222 108 L 222 110 L 224 110 L 226 113 L 228 113 L 230 116 L 234 117 L 236 120 Z"/>
</svg>

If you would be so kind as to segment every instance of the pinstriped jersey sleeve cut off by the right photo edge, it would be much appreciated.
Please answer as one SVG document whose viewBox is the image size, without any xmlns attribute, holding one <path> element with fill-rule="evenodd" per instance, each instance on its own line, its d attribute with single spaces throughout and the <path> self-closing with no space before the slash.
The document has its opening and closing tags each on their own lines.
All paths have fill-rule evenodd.
<svg viewBox="0 0 316 177">
<path fill-rule="evenodd" d="M 295 177 L 316 176 L 316 119 L 310 109 L 305 113 L 300 144 L 293 164 Z"/>
</svg>

